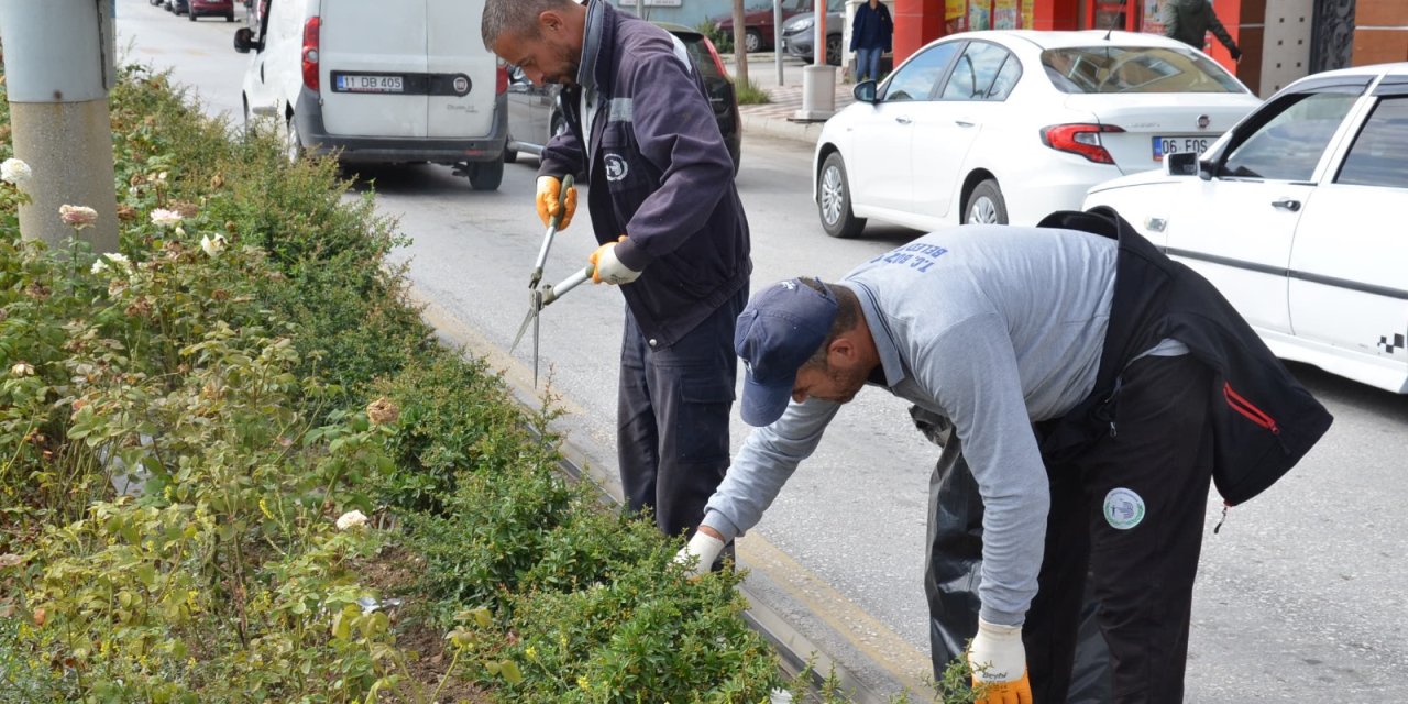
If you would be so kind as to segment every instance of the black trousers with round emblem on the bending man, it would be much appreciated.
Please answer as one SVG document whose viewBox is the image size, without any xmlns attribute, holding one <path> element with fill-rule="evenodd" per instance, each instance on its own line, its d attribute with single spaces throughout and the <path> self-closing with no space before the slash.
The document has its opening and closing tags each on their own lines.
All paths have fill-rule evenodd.
<svg viewBox="0 0 1408 704">
<path fill-rule="evenodd" d="M 1191 355 L 1139 359 L 1121 373 L 1108 432 L 1048 463 L 1046 552 L 1022 628 L 1038 704 L 1066 701 L 1087 579 L 1114 701 L 1183 701 L 1212 482 L 1212 390 L 1211 369 Z"/>
</svg>

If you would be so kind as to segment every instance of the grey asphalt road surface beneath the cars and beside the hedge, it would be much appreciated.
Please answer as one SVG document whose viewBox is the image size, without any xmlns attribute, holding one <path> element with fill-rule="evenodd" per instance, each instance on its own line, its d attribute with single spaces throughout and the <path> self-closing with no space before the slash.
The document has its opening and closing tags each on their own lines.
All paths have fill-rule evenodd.
<svg viewBox="0 0 1408 704">
<path fill-rule="evenodd" d="M 231 48 L 239 23 L 187 23 L 146 3 L 117 0 L 125 61 L 172 69 L 211 113 L 239 121 L 246 56 Z M 242 10 L 239 10 L 242 18 Z M 466 41 L 477 41 L 466 38 Z M 857 241 L 825 237 L 810 201 L 810 148 L 748 137 L 738 186 L 753 234 L 753 290 L 783 277 L 838 277 L 915 235 L 872 227 Z M 507 346 L 527 311 L 525 286 L 543 228 L 532 208 L 535 159 L 510 165 L 497 193 L 472 191 L 442 166 L 363 169 L 377 207 L 413 244 L 407 265 L 427 317 L 448 339 L 531 386 L 529 344 Z M 584 203 L 584 200 L 583 200 Z M 560 280 L 593 248 L 587 218 L 562 232 L 545 279 Z M 543 393 L 569 417 L 577 458 L 614 474 L 615 362 L 622 300 L 584 286 L 542 318 Z M 1218 535 L 1208 503 L 1195 589 L 1190 703 L 1408 701 L 1408 397 L 1319 370 L 1293 370 L 1336 415 L 1329 435 L 1283 482 L 1233 508 Z M 735 421 L 734 444 L 746 434 Z M 758 556 L 800 632 L 836 650 L 922 670 L 924 522 L 935 448 L 905 404 L 867 390 L 842 411 L 741 549 Z M 843 634 L 843 635 L 841 635 Z M 838 655 L 843 663 L 845 653 Z M 884 676 L 869 673 L 883 686 Z"/>
</svg>

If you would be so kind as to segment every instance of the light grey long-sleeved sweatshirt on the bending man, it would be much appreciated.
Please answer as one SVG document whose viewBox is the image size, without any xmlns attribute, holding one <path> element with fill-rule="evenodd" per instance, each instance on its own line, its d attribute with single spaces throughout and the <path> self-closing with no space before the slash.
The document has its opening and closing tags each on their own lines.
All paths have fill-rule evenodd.
<svg viewBox="0 0 1408 704">
<path fill-rule="evenodd" d="M 994 624 L 1025 620 L 1050 504 L 1031 424 L 1090 396 L 1115 284 L 1115 241 L 1087 232 L 967 225 L 877 256 L 841 284 L 880 353 L 872 383 L 953 421 L 983 494 L 983 600 Z M 793 403 L 755 429 L 705 508 L 725 538 L 762 518 L 821 442 L 839 404 Z"/>
</svg>

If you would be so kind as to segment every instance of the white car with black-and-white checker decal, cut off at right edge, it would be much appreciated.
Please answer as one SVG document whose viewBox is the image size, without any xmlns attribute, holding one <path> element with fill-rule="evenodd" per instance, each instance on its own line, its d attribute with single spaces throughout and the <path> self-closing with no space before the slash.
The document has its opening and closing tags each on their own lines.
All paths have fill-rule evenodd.
<svg viewBox="0 0 1408 704">
<path fill-rule="evenodd" d="M 1283 359 L 1408 393 L 1408 63 L 1291 83 L 1201 158 L 1090 190 Z"/>
</svg>

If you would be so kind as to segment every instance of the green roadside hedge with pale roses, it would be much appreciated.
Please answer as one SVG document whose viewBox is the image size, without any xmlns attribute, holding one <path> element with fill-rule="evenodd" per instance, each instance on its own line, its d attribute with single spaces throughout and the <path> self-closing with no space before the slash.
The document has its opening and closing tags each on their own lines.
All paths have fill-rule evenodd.
<svg viewBox="0 0 1408 704">
<path fill-rule="evenodd" d="M 0 183 L 0 703 L 780 684 L 736 577 L 686 580 L 553 472 L 556 411 L 431 342 L 335 165 L 142 68 L 111 114 L 125 259 L 21 239 Z"/>
</svg>

